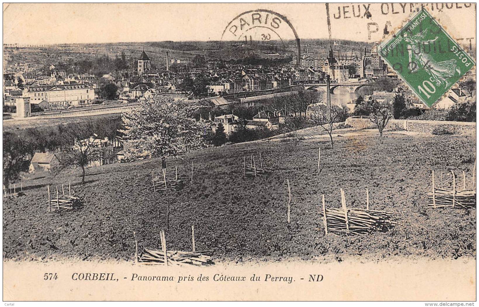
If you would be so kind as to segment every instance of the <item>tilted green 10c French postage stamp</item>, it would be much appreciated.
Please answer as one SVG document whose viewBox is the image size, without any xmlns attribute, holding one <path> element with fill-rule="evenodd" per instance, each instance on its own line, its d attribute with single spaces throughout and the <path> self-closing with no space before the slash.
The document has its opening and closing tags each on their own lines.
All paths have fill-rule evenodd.
<svg viewBox="0 0 479 307">
<path fill-rule="evenodd" d="M 425 9 L 379 53 L 428 107 L 475 65 Z"/>
</svg>

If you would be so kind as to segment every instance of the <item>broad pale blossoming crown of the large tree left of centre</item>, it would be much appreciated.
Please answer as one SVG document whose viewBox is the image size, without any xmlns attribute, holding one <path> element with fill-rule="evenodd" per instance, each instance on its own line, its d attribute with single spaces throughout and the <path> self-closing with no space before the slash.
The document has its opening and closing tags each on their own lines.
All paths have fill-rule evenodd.
<svg viewBox="0 0 479 307">
<path fill-rule="evenodd" d="M 122 115 L 128 153 L 134 156 L 176 156 L 206 146 L 205 124 L 193 118 L 195 108 L 156 96 Z M 165 162 L 166 163 L 166 162 Z"/>
</svg>

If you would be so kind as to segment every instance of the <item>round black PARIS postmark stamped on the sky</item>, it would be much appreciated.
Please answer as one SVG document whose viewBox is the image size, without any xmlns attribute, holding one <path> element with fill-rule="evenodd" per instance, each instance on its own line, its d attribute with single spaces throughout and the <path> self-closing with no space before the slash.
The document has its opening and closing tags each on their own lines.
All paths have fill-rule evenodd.
<svg viewBox="0 0 479 307">
<path fill-rule="evenodd" d="M 263 9 L 242 12 L 233 18 L 225 27 L 221 40 L 279 44 L 283 49 L 293 40 L 298 55 L 301 50 L 299 36 L 289 20 L 280 13 Z"/>
</svg>

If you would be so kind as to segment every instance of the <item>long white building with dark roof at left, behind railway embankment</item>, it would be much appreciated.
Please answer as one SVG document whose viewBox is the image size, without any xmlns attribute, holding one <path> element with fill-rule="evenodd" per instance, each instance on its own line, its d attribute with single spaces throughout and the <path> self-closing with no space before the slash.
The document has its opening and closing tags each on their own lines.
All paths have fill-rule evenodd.
<svg viewBox="0 0 479 307">
<path fill-rule="evenodd" d="M 23 90 L 23 97 L 31 103 L 46 101 L 49 105 L 78 106 L 90 103 L 95 98 L 95 90 L 85 84 L 38 85 Z"/>
</svg>

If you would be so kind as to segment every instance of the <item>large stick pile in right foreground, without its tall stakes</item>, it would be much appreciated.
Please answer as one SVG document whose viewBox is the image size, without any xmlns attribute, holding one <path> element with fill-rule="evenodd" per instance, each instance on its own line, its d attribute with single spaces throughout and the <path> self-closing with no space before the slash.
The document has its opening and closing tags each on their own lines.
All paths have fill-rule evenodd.
<svg viewBox="0 0 479 307">
<path fill-rule="evenodd" d="M 360 208 L 326 209 L 326 221 L 329 232 L 356 235 L 385 231 L 396 224 L 390 212 Z"/>
</svg>

